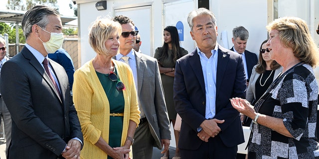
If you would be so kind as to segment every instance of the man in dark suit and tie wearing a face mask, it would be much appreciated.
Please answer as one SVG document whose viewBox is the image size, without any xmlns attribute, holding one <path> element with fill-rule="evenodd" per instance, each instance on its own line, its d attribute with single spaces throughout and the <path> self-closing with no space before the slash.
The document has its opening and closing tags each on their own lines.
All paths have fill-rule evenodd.
<svg viewBox="0 0 319 159">
<path fill-rule="evenodd" d="M 1 95 L 12 117 L 7 159 L 80 159 L 83 135 L 68 78 L 47 58 L 63 43 L 60 15 L 34 6 L 22 30 L 25 47 L 1 69 Z"/>
</svg>

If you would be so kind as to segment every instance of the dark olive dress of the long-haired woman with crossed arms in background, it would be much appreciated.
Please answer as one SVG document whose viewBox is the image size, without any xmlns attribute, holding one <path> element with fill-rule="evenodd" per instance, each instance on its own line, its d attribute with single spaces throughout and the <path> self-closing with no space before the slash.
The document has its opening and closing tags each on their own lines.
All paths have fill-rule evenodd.
<svg viewBox="0 0 319 159">
<path fill-rule="evenodd" d="M 168 50 L 168 57 L 165 59 L 160 58 L 161 57 L 160 50 L 162 50 L 162 49 L 157 48 L 155 50 L 154 58 L 158 59 L 161 67 L 175 68 L 176 62 L 173 62 L 173 60 L 172 60 L 173 59 L 172 50 Z M 180 48 L 180 50 L 181 50 L 181 57 L 188 54 L 188 52 L 185 49 Z M 175 110 L 175 104 L 174 104 L 174 100 L 173 100 L 174 78 L 170 77 L 170 76 L 163 75 L 163 74 L 161 74 L 160 77 L 161 77 L 161 82 L 162 82 L 164 94 L 165 94 L 165 103 L 166 103 L 168 118 L 169 118 L 169 120 L 175 120 L 177 113 Z"/>
</svg>

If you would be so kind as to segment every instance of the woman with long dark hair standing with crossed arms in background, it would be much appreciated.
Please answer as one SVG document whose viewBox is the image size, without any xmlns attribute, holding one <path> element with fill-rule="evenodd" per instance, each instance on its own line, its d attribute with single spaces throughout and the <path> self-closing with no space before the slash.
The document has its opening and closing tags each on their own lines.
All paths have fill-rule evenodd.
<svg viewBox="0 0 319 159">
<path fill-rule="evenodd" d="M 175 126 L 176 110 L 173 101 L 173 83 L 175 74 L 176 60 L 188 54 L 188 52 L 179 46 L 179 37 L 176 27 L 167 26 L 163 32 L 164 44 L 155 50 L 154 58 L 158 59 L 160 68 L 160 77 L 165 93 L 165 102 L 168 112 L 169 121 Z M 179 149 L 177 148 L 179 132 L 174 130 L 176 140 L 176 152 L 172 159 L 180 159 Z M 167 151 L 161 159 L 168 159 Z"/>
</svg>

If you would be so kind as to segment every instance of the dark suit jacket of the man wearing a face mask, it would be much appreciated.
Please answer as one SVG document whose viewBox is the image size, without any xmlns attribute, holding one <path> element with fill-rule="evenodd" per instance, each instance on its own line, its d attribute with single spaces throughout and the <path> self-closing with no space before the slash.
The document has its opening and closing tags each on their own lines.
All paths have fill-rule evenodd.
<svg viewBox="0 0 319 159">
<path fill-rule="evenodd" d="M 62 100 L 26 47 L 2 66 L 1 95 L 12 118 L 8 159 L 57 159 L 70 139 L 77 137 L 83 143 L 67 75 L 54 61 L 49 60 L 49 64 Z"/>
</svg>

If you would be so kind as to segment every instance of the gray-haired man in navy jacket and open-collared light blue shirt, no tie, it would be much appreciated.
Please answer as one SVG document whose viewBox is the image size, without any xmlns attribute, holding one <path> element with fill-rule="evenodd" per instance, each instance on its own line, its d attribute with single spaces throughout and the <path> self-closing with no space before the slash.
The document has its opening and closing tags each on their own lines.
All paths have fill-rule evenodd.
<svg viewBox="0 0 319 159">
<path fill-rule="evenodd" d="M 182 118 L 178 148 L 182 159 L 235 159 L 244 142 L 239 112 L 229 98 L 245 97 L 239 54 L 217 44 L 214 14 L 205 8 L 187 18 L 197 48 L 176 61 L 174 102 Z"/>
</svg>

